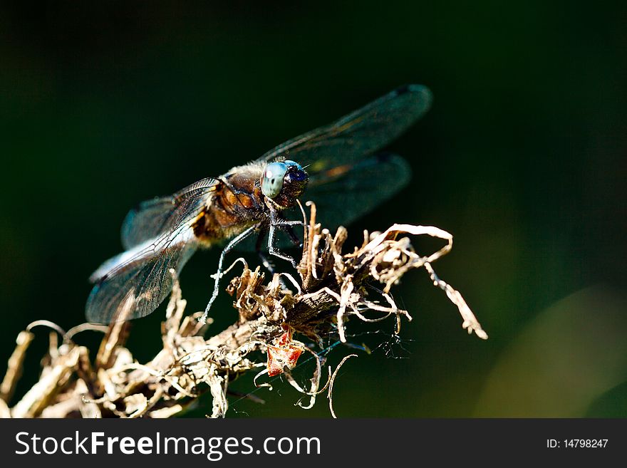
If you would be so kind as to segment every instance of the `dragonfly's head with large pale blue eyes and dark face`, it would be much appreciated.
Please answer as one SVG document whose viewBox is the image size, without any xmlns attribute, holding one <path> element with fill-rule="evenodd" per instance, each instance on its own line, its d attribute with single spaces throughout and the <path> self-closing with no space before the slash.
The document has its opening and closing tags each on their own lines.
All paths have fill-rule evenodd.
<svg viewBox="0 0 627 468">
<path fill-rule="evenodd" d="M 307 182 L 309 175 L 298 162 L 271 162 L 261 175 L 261 192 L 279 207 L 288 208 L 303 194 Z"/>
</svg>

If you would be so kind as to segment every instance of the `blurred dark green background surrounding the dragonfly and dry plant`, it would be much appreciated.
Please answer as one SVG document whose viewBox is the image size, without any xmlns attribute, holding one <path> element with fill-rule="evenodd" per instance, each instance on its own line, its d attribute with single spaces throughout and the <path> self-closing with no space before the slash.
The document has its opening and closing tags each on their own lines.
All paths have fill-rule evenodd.
<svg viewBox="0 0 627 468">
<path fill-rule="evenodd" d="M 351 233 L 410 222 L 454 234 L 436 271 L 490 338 L 467 336 L 445 294 L 410 272 L 395 289 L 414 317 L 406 341 L 346 363 L 336 412 L 626 417 L 627 4 L 220 3 L 1 6 L 0 373 L 31 321 L 83 321 L 87 278 L 121 249 L 137 202 L 422 83 L 432 110 L 392 146 L 413 182 Z M 184 269 L 190 311 L 216 261 L 214 249 Z M 220 299 L 214 331 L 235 319 Z M 140 360 L 160 345 L 161 316 L 135 323 Z M 378 328 L 353 343 L 390 340 L 393 323 Z M 36 333 L 20 392 L 46 348 Z M 304 383 L 311 368 L 299 369 Z M 307 412 L 274 387 L 229 414 L 328 417 L 323 396 Z"/>
</svg>

